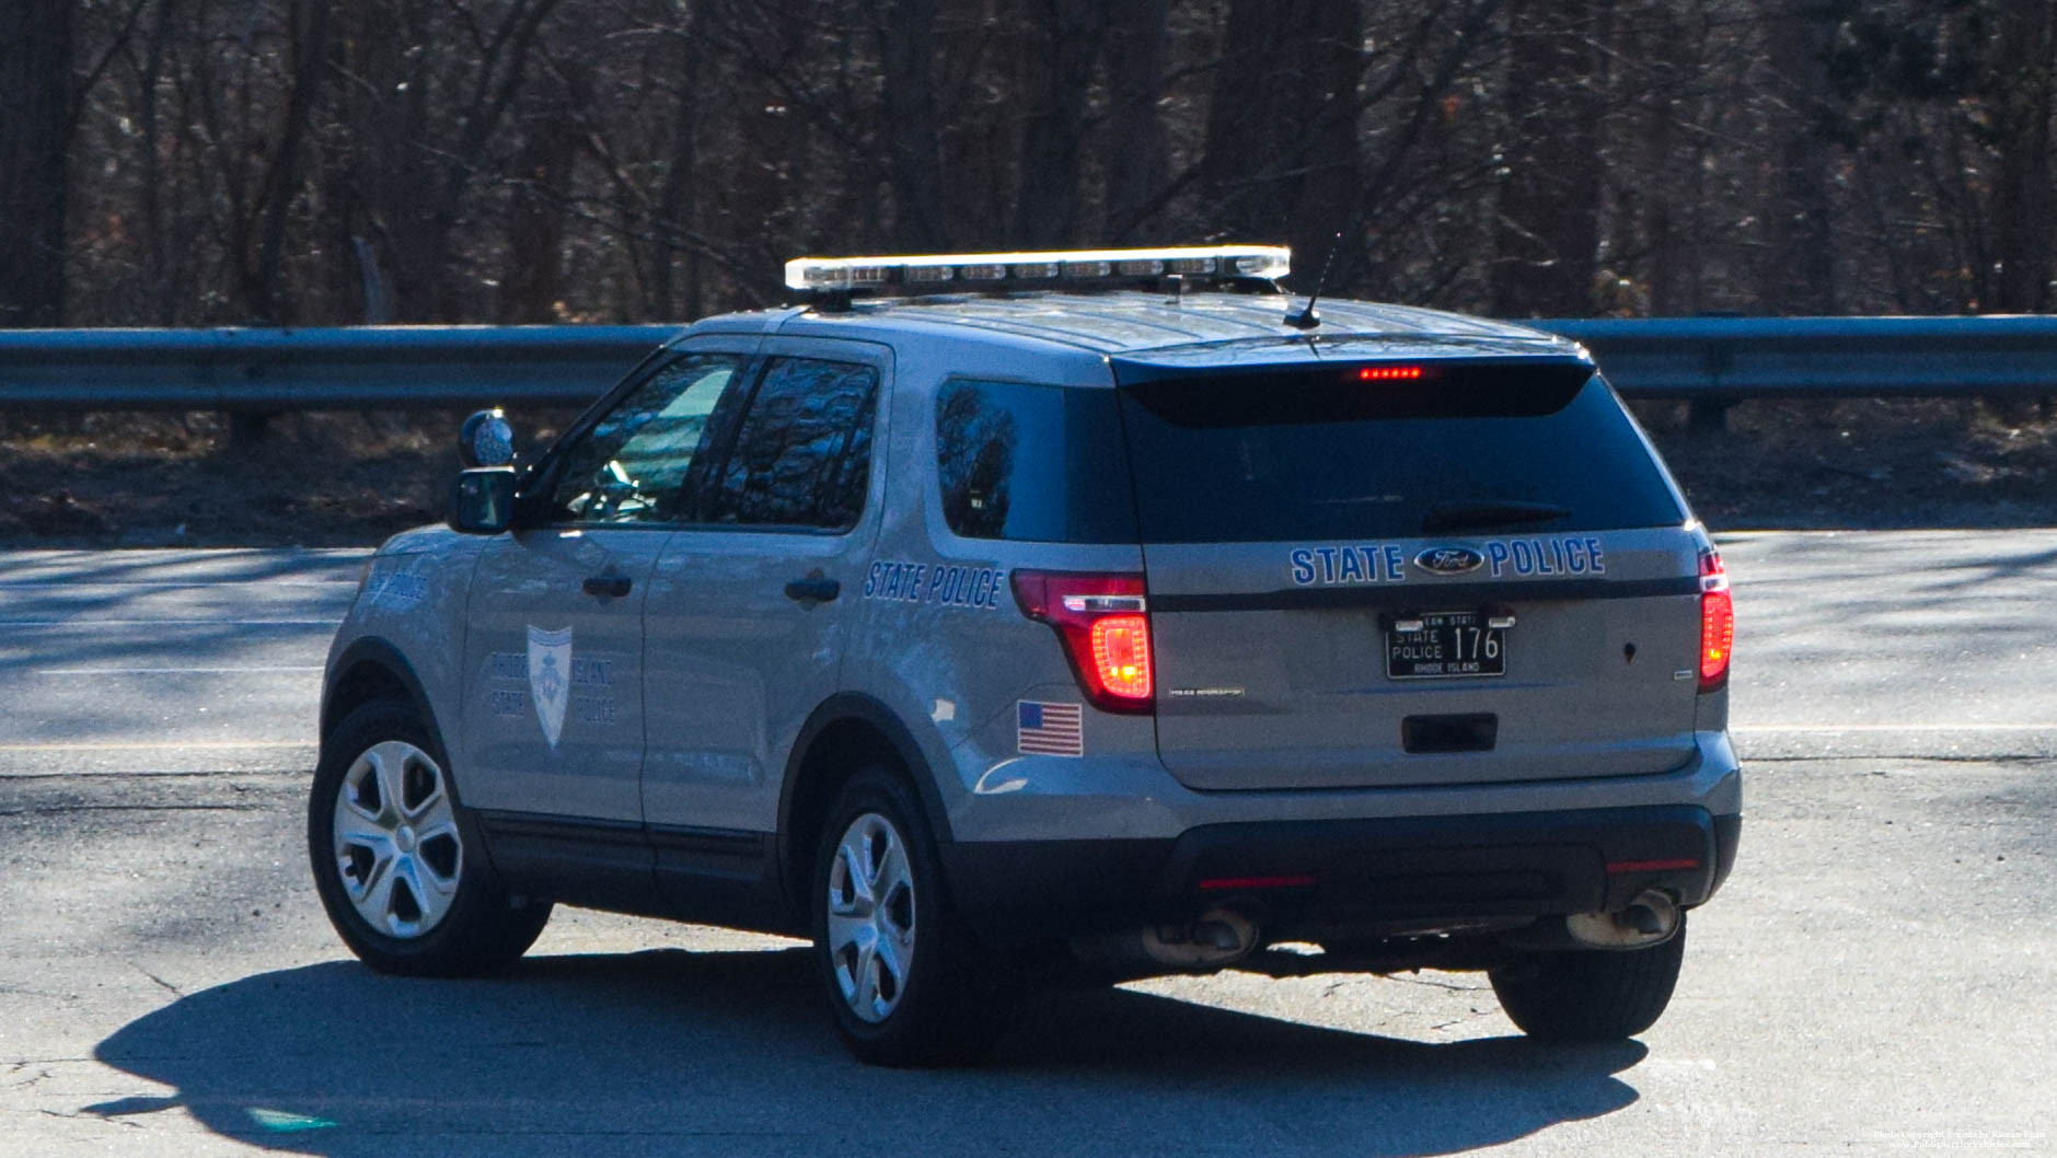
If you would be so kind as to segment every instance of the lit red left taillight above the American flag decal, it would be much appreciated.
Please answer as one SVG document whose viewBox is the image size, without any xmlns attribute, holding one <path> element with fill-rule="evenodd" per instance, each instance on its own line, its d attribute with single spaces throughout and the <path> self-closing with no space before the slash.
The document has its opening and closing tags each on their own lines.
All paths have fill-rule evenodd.
<svg viewBox="0 0 2057 1158">
<path fill-rule="evenodd" d="M 1150 609 L 1142 576 L 1014 572 L 1022 615 L 1049 623 L 1086 699 L 1103 712 L 1152 712 Z"/>
</svg>

